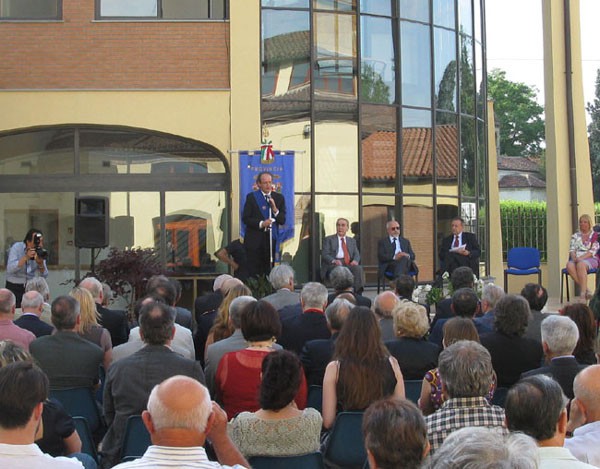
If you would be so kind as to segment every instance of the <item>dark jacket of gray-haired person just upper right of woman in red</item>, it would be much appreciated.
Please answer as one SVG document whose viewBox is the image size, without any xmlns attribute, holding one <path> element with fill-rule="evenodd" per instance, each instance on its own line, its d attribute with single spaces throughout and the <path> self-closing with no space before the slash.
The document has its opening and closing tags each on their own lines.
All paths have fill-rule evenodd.
<svg viewBox="0 0 600 469">
<path fill-rule="evenodd" d="M 277 340 L 284 349 L 300 355 L 309 340 L 329 339 L 331 332 L 322 311 L 306 310 L 281 322 L 281 336 Z"/>
</svg>

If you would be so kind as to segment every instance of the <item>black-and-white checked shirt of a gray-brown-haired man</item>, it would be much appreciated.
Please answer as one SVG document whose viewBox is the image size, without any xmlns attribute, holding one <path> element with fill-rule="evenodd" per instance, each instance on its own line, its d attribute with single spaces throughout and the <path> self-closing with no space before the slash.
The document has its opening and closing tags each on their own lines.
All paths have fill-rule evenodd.
<svg viewBox="0 0 600 469">
<path fill-rule="evenodd" d="M 448 399 L 435 413 L 425 417 L 427 439 L 431 452 L 437 450 L 446 437 L 464 427 L 500 427 L 504 433 L 504 409 L 490 405 L 485 397 Z"/>
</svg>

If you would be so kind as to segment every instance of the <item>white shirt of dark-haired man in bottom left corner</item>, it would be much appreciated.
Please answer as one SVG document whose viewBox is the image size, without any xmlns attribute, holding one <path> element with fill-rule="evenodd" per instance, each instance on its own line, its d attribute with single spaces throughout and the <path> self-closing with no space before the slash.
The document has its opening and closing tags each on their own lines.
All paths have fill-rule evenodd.
<svg viewBox="0 0 600 469">
<path fill-rule="evenodd" d="M 0 443 L 0 467 L 10 469 L 81 469 L 82 464 L 73 458 L 53 458 L 35 443 L 8 445 Z"/>
</svg>

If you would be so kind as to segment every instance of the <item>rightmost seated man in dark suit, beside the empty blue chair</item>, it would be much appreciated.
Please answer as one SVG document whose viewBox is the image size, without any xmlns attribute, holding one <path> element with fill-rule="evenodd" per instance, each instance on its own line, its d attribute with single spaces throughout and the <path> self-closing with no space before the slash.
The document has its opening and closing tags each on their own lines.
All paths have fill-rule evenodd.
<svg viewBox="0 0 600 469">
<path fill-rule="evenodd" d="M 479 256 L 481 250 L 477 237 L 463 231 L 464 221 L 460 217 L 452 219 L 452 234 L 442 240 L 440 246 L 440 268 L 452 274 L 457 267 L 470 267 L 479 278 Z"/>
</svg>

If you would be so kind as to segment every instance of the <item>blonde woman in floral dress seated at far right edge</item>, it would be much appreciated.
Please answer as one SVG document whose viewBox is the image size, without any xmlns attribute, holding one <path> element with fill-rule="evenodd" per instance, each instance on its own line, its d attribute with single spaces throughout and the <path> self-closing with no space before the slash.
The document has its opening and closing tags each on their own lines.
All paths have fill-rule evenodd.
<svg viewBox="0 0 600 469">
<path fill-rule="evenodd" d="M 579 217 L 579 231 L 571 236 L 567 272 L 576 285 L 579 285 L 580 297 L 585 301 L 593 292 L 587 288 L 587 273 L 598 268 L 596 252 L 600 248 L 598 233 L 592 230 L 592 218 L 589 215 Z"/>
</svg>

